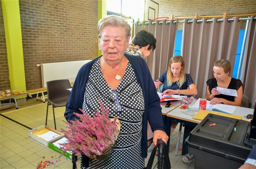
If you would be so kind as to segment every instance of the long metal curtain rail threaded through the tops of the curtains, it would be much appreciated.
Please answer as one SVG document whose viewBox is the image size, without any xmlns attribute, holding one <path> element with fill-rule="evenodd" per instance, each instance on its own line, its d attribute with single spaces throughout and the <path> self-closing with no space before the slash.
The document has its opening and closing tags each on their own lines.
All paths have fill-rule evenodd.
<svg viewBox="0 0 256 169">
<path fill-rule="evenodd" d="M 251 19 L 251 18 L 238 18 L 238 21 L 250 20 L 250 19 Z M 256 19 L 256 17 L 254 17 L 253 19 Z M 233 21 L 233 20 L 234 20 L 234 18 L 228 18 L 228 21 Z M 170 20 L 166 20 L 166 21 L 159 21 L 159 24 L 162 24 L 162 23 L 164 23 L 164 22 L 165 22 L 165 23 L 171 23 Z M 188 22 L 188 23 L 193 23 L 193 20 L 188 20 L 187 22 Z M 197 23 L 203 22 L 203 19 L 197 19 L 196 22 L 197 22 Z M 206 22 L 213 22 L 213 19 L 206 19 Z M 223 22 L 223 19 L 217 19 L 217 22 Z M 184 23 L 184 20 L 174 20 L 173 23 Z M 141 25 L 142 22 L 133 23 L 133 24 Z M 146 21 L 144 24 L 145 24 L 145 25 L 149 24 L 149 21 Z M 153 24 L 156 24 L 156 21 L 153 21 L 151 24 L 152 24 L 152 25 L 153 25 Z"/>
</svg>

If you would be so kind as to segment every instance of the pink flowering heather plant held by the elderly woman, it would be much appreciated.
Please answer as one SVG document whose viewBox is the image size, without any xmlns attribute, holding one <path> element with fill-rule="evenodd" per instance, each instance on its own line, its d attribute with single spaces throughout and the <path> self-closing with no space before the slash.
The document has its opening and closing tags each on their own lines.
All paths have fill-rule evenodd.
<svg viewBox="0 0 256 169">
<path fill-rule="evenodd" d="M 75 155 L 84 154 L 90 158 L 102 155 L 102 151 L 109 145 L 114 145 L 119 134 L 118 119 L 109 119 L 109 110 L 100 101 L 100 110 L 96 110 L 90 117 L 83 110 L 82 114 L 74 113 L 79 119 L 71 120 L 68 129 L 62 129 L 68 142 L 64 143 L 64 151 L 73 151 Z"/>
</svg>

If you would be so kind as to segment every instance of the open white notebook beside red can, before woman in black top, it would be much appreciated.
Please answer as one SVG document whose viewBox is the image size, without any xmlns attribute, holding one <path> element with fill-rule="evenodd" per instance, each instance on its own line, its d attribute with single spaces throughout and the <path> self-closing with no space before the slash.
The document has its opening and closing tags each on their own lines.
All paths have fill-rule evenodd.
<svg viewBox="0 0 256 169">
<path fill-rule="evenodd" d="M 200 99 L 198 99 L 197 102 L 192 107 L 199 109 L 199 101 Z M 217 111 L 217 112 L 227 113 L 227 114 L 234 114 L 236 111 L 236 106 L 224 105 L 221 103 L 218 103 L 216 105 L 211 105 L 210 101 L 207 100 L 206 110 Z"/>
</svg>

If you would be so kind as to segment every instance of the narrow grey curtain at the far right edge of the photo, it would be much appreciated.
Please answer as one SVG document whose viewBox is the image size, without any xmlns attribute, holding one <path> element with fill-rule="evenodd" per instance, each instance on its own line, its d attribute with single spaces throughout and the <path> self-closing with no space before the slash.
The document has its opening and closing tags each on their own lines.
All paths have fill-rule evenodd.
<svg viewBox="0 0 256 169">
<path fill-rule="evenodd" d="M 251 16 L 248 25 L 247 41 L 241 71 L 244 94 L 250 101 L 256 99 L 256 20 Z M 252 104 L 253 105 L 253 104 Z"/>
</svg>

